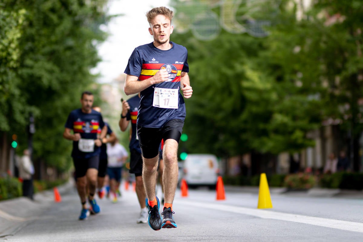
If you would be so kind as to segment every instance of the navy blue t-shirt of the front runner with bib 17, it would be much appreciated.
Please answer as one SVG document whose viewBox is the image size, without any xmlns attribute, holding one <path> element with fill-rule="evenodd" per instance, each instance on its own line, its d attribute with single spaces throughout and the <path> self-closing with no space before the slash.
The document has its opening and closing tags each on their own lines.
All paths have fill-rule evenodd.
<svg viewBox="0 0 363 242">
<path fill-rule="evenodd" d="M 154 76 L 160 69 L 168 70 L 168 81 L 152 85 L 140 93 L 140 106 L 137 124 L 143 127 L 160 128 L 171 119 L 185 119 L 185 103 L 180 93 L 180 74 L 189 72 L 188 52 L 182 46 L 171 42 L 172 48 L 160 50 L 150 44 L 141 45 L 132 52 L 125 73 L 139 77 L 139 81 Z M 154 88 L 178 90 L 178 108 L 160 108 L 152 106 Z"/>
</svg>

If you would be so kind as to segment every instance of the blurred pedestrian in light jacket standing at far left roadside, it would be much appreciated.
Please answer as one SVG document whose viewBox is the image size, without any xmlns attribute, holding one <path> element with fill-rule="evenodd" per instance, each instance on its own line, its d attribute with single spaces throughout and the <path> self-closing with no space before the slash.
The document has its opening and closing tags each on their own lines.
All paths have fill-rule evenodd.
<svg viewBox="0 0 363 242">
<path fill-rule="evenodd" d="M 33 175 L 34 166 L 30 159 L 30 152 L 28 149 L 24 149 L 23 156 L 19 159 L 19 178 L 23 181 L 23 196 L 33 200 L 34 187 L 33 187 Z"/>
</svg>

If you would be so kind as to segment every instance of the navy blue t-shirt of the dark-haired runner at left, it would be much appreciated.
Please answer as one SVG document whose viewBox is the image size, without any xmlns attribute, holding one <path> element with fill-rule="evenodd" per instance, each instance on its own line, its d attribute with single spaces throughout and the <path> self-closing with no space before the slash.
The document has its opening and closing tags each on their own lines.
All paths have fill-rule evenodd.
<svg viewBox="0 0 363 242">
<path fill-rule="evenodd" d="M 82 112 L 81 108 L 73 110 L 68 115 L 68 119 L 64 127 L 70 128 L 74 133 L 81 134 L 82 139 L 97 139 L 98 128 L 103 128 L 101 113 L 92 110 L 90 114 Z M 73 141 L 72 157 L 74 158 L 90 158 L 99 155 L 101 148 L 94 145 L 93 152 L 82 152 L 78 149 L 78 141 Z"/>
</svg>

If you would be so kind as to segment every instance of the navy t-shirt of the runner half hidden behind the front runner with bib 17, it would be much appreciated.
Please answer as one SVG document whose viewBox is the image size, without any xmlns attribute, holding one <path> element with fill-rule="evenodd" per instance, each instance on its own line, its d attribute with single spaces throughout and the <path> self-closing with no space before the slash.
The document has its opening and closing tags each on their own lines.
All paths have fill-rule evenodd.
<svg viewBox="0 0 363 242">
<path fill-rule="evenodd" d="M 129 148 L 130 151 L 132 149 L 136 149 L 136 151 L 138 151 L 141 154 L 139 138 L 137 137 L 137 132 L 136 132 L 136 119 L 138 116 L 138 110 L 140 105 L 139 95 L 129 98 L 127 100 L 127 103 L 129 103 L 130 110 L 126 114 L 126 120 L 131 120 L 131 130 L 132 130 Z"/>
</svg>

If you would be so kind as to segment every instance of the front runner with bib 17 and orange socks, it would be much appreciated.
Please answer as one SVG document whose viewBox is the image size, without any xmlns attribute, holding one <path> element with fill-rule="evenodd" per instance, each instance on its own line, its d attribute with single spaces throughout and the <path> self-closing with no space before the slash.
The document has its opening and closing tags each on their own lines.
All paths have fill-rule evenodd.
<svg viewBox="0 0 363 242">
<path fill-rule="evenodd" d="M 137 134 L 143 157 L 143 181 L 149 209 L 148 223 L 154 230 L 175 228 L 172 202 L 178 183 L 178 143 L 184 126 L 184 98 L 192 96 L 189 86 L 187 49 L 170 41 L 174 27 L 173 12 L 166 7 L 153 8 L 146 13 L 150 44 L 132 52 L 125 69 L 126 95 L 140 92 Z M 180 93 L 179 89 L 183 94 Z M 164 139 L 163 219 L 159 213 L 159 198 L 155 196 L 158 148 Z"/>
</svg>

